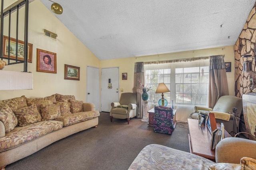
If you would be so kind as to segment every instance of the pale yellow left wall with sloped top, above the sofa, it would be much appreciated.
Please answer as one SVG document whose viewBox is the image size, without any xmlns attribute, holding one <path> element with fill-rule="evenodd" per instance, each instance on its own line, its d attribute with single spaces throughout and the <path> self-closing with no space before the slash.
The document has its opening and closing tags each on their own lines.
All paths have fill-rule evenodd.
<svg viewBox="0 0 256 170">
<path fill-rule="evenodd" d="M 24 16 L 24 7 L 20 9 L 19 15 Z M 40 0 L 29 4 L 28 28 L 28 42 L 33 44 L 32 63 L 28 63 L 28 72 L 33 73 L 33 90 L 0 90 L 0 100 L 22 95 L 30 98 L 60 93 L 72 94 L 77 100 L 86 101 L 86 65 L 99 67 L 99 59 Z M 57 40 L 44 36 L 44 29 L 56 33 Z M 7 30 L 4 30 L 4 35 L 8 35 Z M 11 37 L 15 37 L 13 35 L 15 33 L 12 32 Z M 23 36 L 19 35 L 19 39 L 23 40 Z M 37 48 L 57 54 L 57 74 L 36 72 Z M 80 81 L 64 80 L 64 64 L 80 67 Z M 23 64 L 8 65 L 4 70 L 23 71 Z"/>
</svg>

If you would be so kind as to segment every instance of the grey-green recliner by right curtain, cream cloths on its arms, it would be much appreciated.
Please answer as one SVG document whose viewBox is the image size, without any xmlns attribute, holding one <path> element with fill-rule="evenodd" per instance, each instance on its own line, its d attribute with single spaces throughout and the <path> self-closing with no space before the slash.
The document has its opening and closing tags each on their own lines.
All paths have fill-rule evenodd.
<svg viewBox="0 0 256 170">
<path fill-rule="evenodd" d="M 236 127 L 234 128 L 234 115 L 233 107 L 237 108 L 236 111 Z M 194 112 L 190 114 L 191 119 L 198 119 L 198 114 L 208 115 L 209 112 L 214 113 L 216 122 L 223 123 L 224 128 L 228 133 L 238 133 L 240 115 L 243 109 L 242 98 L 236 96 L 221 96 L 213 108 L 195 106 Z"/>
</svg>

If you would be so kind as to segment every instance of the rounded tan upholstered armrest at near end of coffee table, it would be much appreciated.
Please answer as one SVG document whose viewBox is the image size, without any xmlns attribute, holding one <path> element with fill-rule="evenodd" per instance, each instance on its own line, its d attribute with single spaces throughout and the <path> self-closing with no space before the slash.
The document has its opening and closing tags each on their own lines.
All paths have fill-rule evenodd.
<svg viewBox="0 0 256 170">
<path fill-rule="evenodd" d="M 240 164 L 242 157 L 256 159 L 256 141 L 238 137 L 222 139 L 215 149 L 216 163 Z"/>
</svg>

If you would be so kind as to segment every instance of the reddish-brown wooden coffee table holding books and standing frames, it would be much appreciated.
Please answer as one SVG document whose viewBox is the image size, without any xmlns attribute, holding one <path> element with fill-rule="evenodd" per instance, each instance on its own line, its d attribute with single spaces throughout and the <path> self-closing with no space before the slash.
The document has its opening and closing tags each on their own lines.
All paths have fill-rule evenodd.
<svg viewBox="0 0 256 170">
<path fill-rule="evenodd" d="M 216 123 L 217 128 L 220 129 L 220 123 Z M 198 125 L 197 119 L 188 119 L 188 141 L 190 153 L 197 154 L 204 158 L 208 158 L 215 162 L 215 150 L 211 150 L 212 135 L 206 126 Z M 232 137 L 226 130 L 224 137 Z"/>
</svg>

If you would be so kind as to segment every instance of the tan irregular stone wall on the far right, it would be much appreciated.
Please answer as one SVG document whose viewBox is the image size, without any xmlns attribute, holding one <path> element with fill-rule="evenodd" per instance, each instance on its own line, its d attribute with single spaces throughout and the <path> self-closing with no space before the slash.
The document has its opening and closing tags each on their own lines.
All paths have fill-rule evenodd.
<svg viewBox="0 0 256 170">
<path fill-rule="evenodd" d="M 256 64 L 252 61 L 251 72 L 243 71 L 243 63 L 246 58 L 243 55 L 256 55 L 256 4 L 252 8 L 247 21 L 243 27 L 243 30 L 234 45 L 235 51 L 235 95 L 242 98 L 243 94 L 250 92 L 250 78 L 253 78 L 254 84 L 256 84 Z M 253 60 L 248 58 L 248 60 Z M 256 85 L 253 86 L 256 88 Z"/>
</svg>

